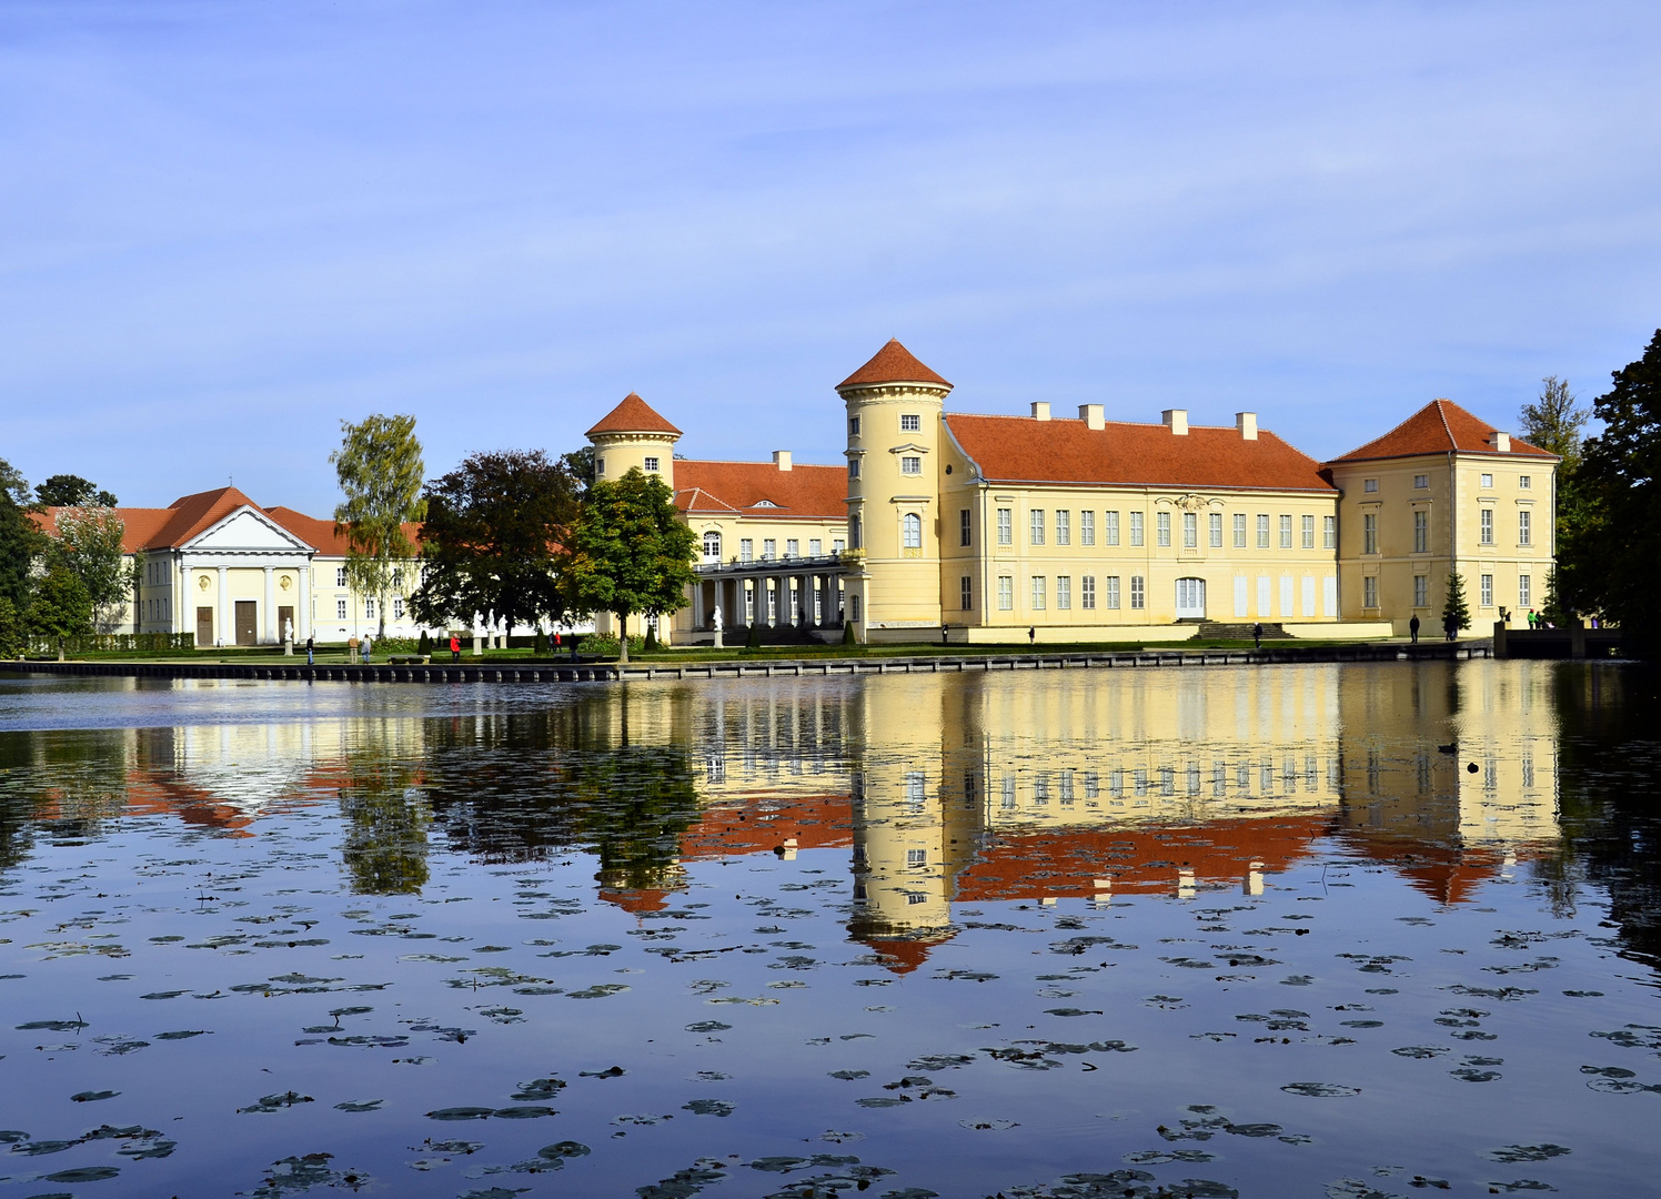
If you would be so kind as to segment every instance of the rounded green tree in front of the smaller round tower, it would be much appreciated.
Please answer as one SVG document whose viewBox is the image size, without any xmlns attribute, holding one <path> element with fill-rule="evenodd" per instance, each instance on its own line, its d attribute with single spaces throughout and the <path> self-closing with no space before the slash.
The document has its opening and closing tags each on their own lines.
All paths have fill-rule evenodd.
<svg viewBox="0 0 1661 1199">
<path fill-rule="evenodd" d="M 618 618 L 621 661 L 628 661 L 633 613 L 659 616 L 686 603 L 686 588 L 698 578 L 696 541 L 658 475 L 631 467 L 623 478 L 588 490 L 561 568 L 583 611 Z"/>
</svg>

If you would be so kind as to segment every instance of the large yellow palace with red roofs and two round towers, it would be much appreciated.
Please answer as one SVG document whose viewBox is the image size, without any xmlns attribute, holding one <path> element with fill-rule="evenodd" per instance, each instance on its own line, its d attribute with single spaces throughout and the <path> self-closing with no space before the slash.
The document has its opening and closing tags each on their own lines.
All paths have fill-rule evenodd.
<svg viewBox="0 0 1661 1199">
<path fill-rule="evenodd" d="M 1433 633 L 1460 571 L 1475 628 L 1538 606 L 1556 458 L 1435 400 L 1322 463 L 1257 414 L 1232 425 L 947 410 L 899 340 L 837 385 L 847 462 L 689 462 L 630 395 L 588 437 L 596 475 L 659 473 L 701 535 L 676 643 L 757 623 L 857 641 L 1178 641 Z M 1234 629 L 1236 633 L 1239 629 Z"/>
</svg>

